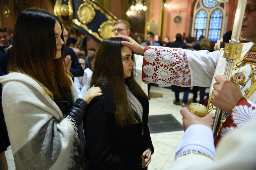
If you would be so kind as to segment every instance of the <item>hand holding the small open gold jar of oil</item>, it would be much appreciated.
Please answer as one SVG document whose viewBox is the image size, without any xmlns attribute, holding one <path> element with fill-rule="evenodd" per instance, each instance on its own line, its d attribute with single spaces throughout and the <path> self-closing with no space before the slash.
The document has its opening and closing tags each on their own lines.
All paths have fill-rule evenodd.
<svg viewBox="0 0 256 170">
<path fill-rule="evenodd" d="M 183 122 L 183 130 L 186 131 L 188 126 L 193 124 L 204 124 L 212 129 L 212 116 L 210 114 L 206 114 L 204 117 L 198 117 L 197 115 L 189 112 L 187 107 L 183 107 L 181 109 L 182 122 Z"/>
</svg>

